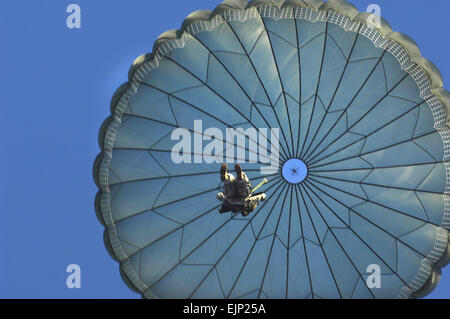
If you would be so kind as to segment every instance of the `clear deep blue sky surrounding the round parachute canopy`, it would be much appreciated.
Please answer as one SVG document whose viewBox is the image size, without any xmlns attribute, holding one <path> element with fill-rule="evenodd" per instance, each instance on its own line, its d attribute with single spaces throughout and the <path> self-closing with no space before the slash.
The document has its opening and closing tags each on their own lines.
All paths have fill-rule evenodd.
<svg viewBox="0 0 450 319">
<path fill-rule="evenodd" d="M 159 34 L 220 0 L 0 2 L 0 298 L 139 298 L 122 282 L 94 213 L 97 134 L 129 66 Z M 353 0 L 381 6 L 449 89 L 450 1 Z M 66 27 L 81 7 L 82 28 Z M 68 264 L 81 289 L 68 289 Z M 430 295 L 450 298 L 450 267 Z"/>
</svg>

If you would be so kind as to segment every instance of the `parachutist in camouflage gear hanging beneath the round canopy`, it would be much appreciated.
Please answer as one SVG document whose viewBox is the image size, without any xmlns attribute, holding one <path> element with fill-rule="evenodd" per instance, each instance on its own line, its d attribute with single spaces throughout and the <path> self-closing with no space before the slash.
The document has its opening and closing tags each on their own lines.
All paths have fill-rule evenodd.
<svg viewBox="0 0 450 319">
<path fill-rule="evenodd" d="M 228 173 L 227 164 L 222 164 L 220 168 L 220 179 L 224 183 L 223 192 L 217 194 L 217 199 L 223 204 L 219 213 L 241 213 L 247 216 L 258 207 L 261 201 L 266 199 L 266 194 L 255 193 L 255 191 L 267 183 L 264 179 L 257 187 L 252 189 L 252 185 L 247 175 L 242 171 L 239 164 L 235 165 L 236 178 Z"/>
</svg>

